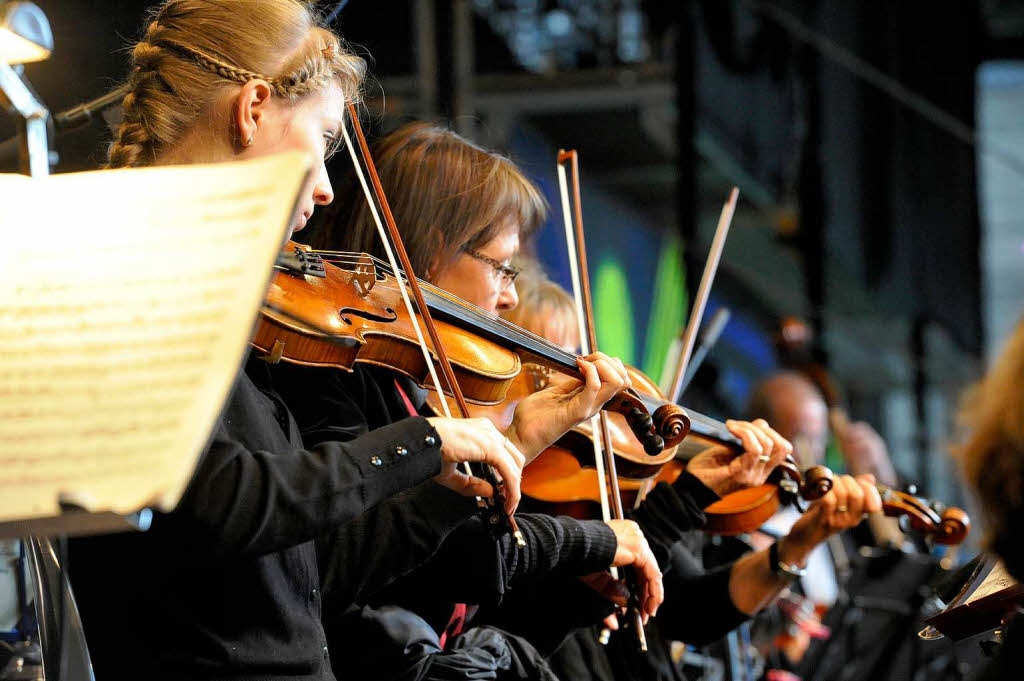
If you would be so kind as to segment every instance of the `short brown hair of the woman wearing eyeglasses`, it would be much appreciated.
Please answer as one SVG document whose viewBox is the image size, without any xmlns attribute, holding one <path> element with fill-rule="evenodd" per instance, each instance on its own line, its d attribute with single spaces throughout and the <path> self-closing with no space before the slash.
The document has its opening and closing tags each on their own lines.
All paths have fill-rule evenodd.
<svg viewBox="0 0 1024 681">
<path fill-rule="evenodd" d="M 544 223 L 547 202 L 508 158 L 452 130 L 411 123 L 373 148 L 374 164 L 419 276 L 434 279 L 465 249 L 483 246 L 509 220 L 527 241 Z M 349 171 L 316 248 L 384 255 L 362 189 Z"/>
</svg>

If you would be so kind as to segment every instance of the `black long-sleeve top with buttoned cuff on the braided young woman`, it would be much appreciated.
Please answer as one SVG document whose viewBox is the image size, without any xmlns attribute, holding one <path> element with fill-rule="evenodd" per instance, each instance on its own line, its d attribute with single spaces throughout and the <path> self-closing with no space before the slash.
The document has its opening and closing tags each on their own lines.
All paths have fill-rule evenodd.
<svg viewBox="0 0 1024 681">
<path fill-rule="evenodd" d="M 303 449 L 265 365 L 250 359 L 175 510 L 146 533 L 73 542 L 97 678 L 334 679 L 313 540 L 436 475 L 440 444 L 409 418 Z M 454 524 L 418 527 L 420 546 Z M 399 552 L 367 579 L 386 584 L 426 555 Z"/>
</svg>

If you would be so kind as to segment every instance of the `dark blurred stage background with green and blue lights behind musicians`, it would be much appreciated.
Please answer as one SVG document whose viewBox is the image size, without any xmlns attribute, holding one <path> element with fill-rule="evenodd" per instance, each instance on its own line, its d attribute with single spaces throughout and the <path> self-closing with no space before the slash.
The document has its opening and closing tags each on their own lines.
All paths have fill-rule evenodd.
<svg viewBox="0 0 1024 681">
<path fill-rule="evenodd" d="M 124 77 L 148 2 L 36 2 L 56 48 L 27 75 L 51 111 Z M 854 72 L 971 129 L 979 66 L 1021 56 L 1022 16 L 995 0 L 352 0 L 338 28 L 371 59 L 373 129 L 449 121 L 511 153 L 556 216 L 555 151 L 580 151 L 601 344 L 655 379 L 738 185 L 712 301 L 733 320 L 688 398 L 740 412 L 777 365 L 779 317 L 800 315 L 854 416 L 941 491 L 956 394 L 995 340 L 978 148 Z M 102 123 L 60 136 L 56 170 L 97 167 L 109 139 Z M 557 229 L 539 251 L 567 281 Z"/>
</svg>

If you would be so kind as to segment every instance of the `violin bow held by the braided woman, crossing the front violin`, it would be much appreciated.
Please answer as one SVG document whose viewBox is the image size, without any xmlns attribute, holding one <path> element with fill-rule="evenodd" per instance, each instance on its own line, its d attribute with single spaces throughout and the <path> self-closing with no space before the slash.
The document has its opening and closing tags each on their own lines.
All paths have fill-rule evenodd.
<svg viewBox="0 0 1024 681">
<path fill-rule="evenodd" d="M 453 398 L 455 398 L 456 405 L 459 409 L 459 414 L 462 418 L 468 419 L 469 406 L 466 402 L 465 395 L 462 393 L 462 389 L 459 387 L 459 382 L 452 369 L 452 363 L 449 360 L 447 353 L 444 351 L 444 347 L 440 342 L 440 336 L 437 333 L 433 316 L 430 314 L 430 308 L 427 306 L 426 300 L 423 297 L 423 291 L 420 289 L 416 272 L 413 271 L 413 265 L 410 262 L 409 253 L 406 251 L 406 245 L 401 240 L 401 235 L 398 232 L 398 226 L 394 221 L 394 215 L 391 213 L 391 207 L 384 194 L 384 187 L 381 184 L 380 176 L 377 174 L 377 167 L 374 165 L 373 156 L 370 153 L 369 144 L 367 144 L 366 135 L 362 134 L 362 126 L 359 124 L 358 113 L 355 111 L 354 104 L 348 104 L 348 114 L 352 122 L 352 130 L 358 140 L 362 164 L 366 165 L 366 174 L 370 176 L 370 180 L 373 183 L 373 194 L 371 194 L 370 187 L 367 184 L 367 179 L 362 172 L 362 166 L 359 163 L 359 158 L 355 154 L 355 147 L 348 134 L 348 129 L 345 126 L 342 126 L 341 130 L 345 137 L 345 146 L 348 148 L 348 153 L 352 158 L 352 166 L 355 168 L 355 174 L 359 179 L 359 184 L 362 186 L 364 194 L 366 194 L 367 202 L 370 205 L 370 212 L 377 225 L 377 231 L 380 235 L 381 242 L 384 246 L 384 252 L 387 254 L 388 263 L 391 265 L 391 270 L 395 273 L 395 282 L 397 283 L 398 290 L 401 293 L 401 298 L 406 304 L 406 309 L 409 312 L 409 317 L 412 320 L 413 328 L 416 330 L 416 338 L 419 342 L 420 350 L 423 352 L 423 358 L 426 363 L 427 371 L 430 373 L 430 379 L 434 384 L 434 388 L 437 390 L 438 396 L 440 397 L 444 416 L 452 418 L 452 411 L 449 408 L 444 391 L 441 390 L 441 382 L 438 379 L 437 372 L 434 367 L 434 360 L 430 354 L 430 347 L 427 345 L 426 339 L 423 337 L 423 331 L 420 328 L 421 322 L 422 325 L 426 327 L 427 335 L 430 336 L 437 365 L 441 368 L 441 373 L 444 375 L 444 381 L 447 384 L 449 391 L 451 392 Z M 380 213 L 377 211 L 378 205 L 380 206 L 380 213 L 384 214 L 383 222 L 381 221 Z M 385 223 L 387 224 L 387 229 L 384 227 Z M 400 267 L 398 266 L 399 262 L 401 264 Z M 404 273 L 404 276 L 402 276 L 402 273 Z M 416 299 L 416 308 L 413 307 L 413 301 L 409 295 L 410 290 L 412 290 L 413 298 Z M 417 308 L 420 311 L 419 318 L 416 313 Z M 487 511 L 487 521 L 492 525 L 496 525 L 501 521 L 502 516 L 499 515 L 500 513 L 504 514 L 505 524 L 509 531 L 511 531 L 516 544 L 520 547 L 526 546 L 526 541 L 523 538 L 522 533 L 519 530 L 519 526 L 516 524 L 515 518 L 512 514 L 504 513 L 503 511 L 504 496 L 502 494 L 501 483 L 498 481 L 498 477 L 495 474 L 494 469 L 492 469 L 488 465 L 484 465 L 483 471 L 484 478 L 490 482 L 495 490 L 495 498 L 493 500 L 484 500 L 477 497 L 477 504 L 481 507 L 481 509 Z M 472 468 L 469 463 L 466 463 L 466 472 L 469 475 L 473 475 Z"/>
</svg>

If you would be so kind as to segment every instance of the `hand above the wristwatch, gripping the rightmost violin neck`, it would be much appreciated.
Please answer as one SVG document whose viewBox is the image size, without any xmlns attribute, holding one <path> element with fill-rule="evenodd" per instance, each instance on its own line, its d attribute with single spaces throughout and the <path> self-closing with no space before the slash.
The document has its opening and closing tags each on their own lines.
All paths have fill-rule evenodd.
<svg viewBox="0 0 1024 681">
<path fill-rule="evenodd" d="M 779 556 L 787 563 L 800 563 L 829 536 L 857 526 L 865 513 L 880 511 L 882 498 L 873 475 L 839 475 L 831 491 L 811 504 L 790 529 L 779 545 Z"/>
</svg>

